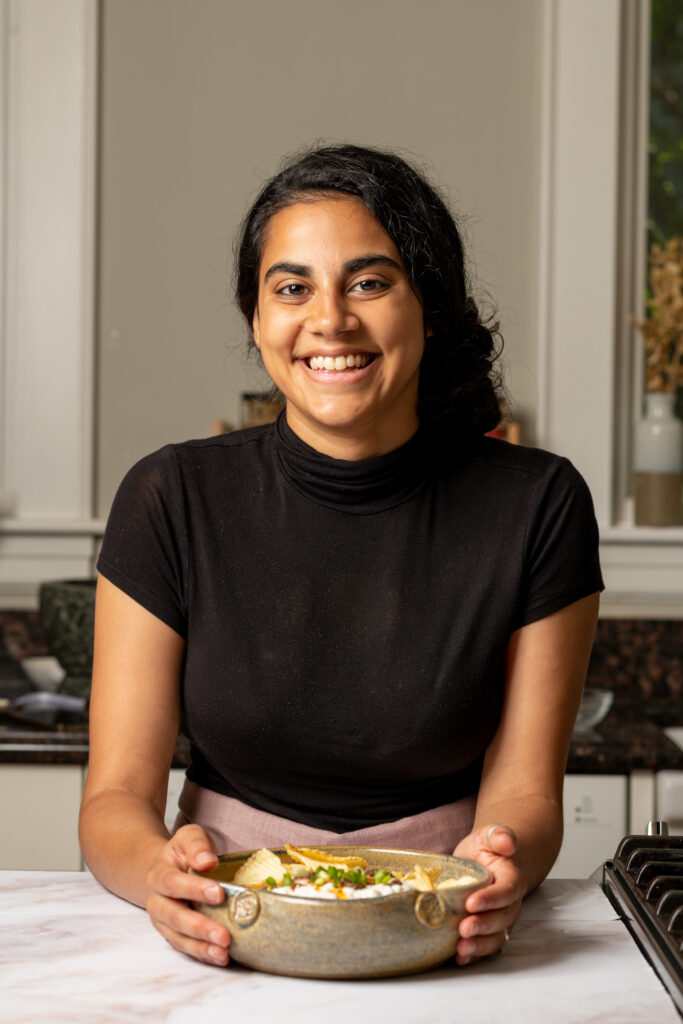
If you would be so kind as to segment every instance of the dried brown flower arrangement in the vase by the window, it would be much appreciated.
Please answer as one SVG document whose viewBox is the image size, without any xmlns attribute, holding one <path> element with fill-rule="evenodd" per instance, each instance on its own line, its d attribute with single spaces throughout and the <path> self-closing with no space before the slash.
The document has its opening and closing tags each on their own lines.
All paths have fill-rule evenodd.
<svg viewBox="0 0 683 1024">
<path fill-rule="evenodd" d="M 645 390 L 676 391 L 683 385 L 683 239 L 650 249 L 649 315 L 632 323 L 645 343 Z"/>
</svg>

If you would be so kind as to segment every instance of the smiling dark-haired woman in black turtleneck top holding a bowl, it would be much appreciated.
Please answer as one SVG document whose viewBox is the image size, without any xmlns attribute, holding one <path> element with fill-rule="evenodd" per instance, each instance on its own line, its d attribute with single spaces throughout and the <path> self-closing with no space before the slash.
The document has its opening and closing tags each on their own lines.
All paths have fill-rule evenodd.
<svg viewBox="0 0 683 1024">
<path fill-rule="evenodd" d="M 560 846 L 602 587 L 591 497 L 566 460 L 485 436 L 495 331 L 452 215 L 398 157 L 288 163 L 238 258 L 285 412 L 169 444 L 119 489 L 85 856 L 176 948 L 225 964 L 227 931 L 187 906 L 223 899 L 189 873 L 216 851 L 455 852 L 493 877 L 467 899 L 464 965 L 507 941 Z"/>
</svg>

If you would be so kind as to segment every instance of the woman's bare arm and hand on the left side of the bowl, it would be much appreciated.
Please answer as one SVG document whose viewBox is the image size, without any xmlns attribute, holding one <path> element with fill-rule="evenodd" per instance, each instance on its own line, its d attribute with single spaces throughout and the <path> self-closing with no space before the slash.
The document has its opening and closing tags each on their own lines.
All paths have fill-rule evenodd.
<svg viewBox="0 0 683 1024">
<path fill-rule="evenodd" d="M 187 873 L 190 866 L 215 864 L 211 840 L 197 825 L 171 839 L 164 825 L 183 656 L 177 633 L 99 578 L 79 833 L 88 866 L 102 885 L 145 906 L 175 948 L 225 964 L 227 931 L 183 902 L 222 900 L 219 886 Z"/>
</svg>

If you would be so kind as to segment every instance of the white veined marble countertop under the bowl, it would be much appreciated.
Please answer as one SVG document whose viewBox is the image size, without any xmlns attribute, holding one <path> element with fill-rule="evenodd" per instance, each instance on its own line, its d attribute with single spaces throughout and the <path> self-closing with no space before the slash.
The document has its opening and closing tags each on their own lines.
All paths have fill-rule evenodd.
<svg viewBox="0 0 683 1024">
<path fill-rule="evenodd" d="M 590 880 L 549 880 L 505 952 L 413 977 L 312 981 L 209 967 L 88 873 L 0 871 L 5 1024 L 680 1024 L 666 989 Z"/>
</svg>

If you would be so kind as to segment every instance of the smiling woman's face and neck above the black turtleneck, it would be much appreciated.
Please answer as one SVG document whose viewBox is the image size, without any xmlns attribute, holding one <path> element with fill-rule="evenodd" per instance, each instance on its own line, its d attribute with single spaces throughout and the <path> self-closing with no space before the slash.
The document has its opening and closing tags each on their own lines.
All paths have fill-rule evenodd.
<svg viewBox="0 0 683 1024">
<path fill-rule="evenodd" d="M 313 199 L 271 218 L 253 328 L 289 425 L 318 452 L 370 458 L 415 433 L 422 305 L 359 200 Z"/>
</svg>

